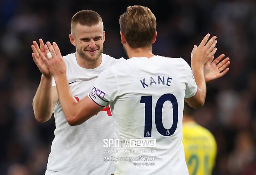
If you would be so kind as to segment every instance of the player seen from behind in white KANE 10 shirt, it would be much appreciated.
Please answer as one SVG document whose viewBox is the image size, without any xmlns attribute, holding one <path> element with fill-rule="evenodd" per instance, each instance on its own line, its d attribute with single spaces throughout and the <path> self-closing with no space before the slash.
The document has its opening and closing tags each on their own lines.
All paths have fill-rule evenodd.
<svg viewBox="0 0 256 175">
<path fill-rule="evenodd" d="M 206 95 L 204 66 L 216 52 L 216 36 L 207 43 L 210 36 L 207 34 L 198 47 L 194 46 L 191 57 L 194 80 L 191 68 L 182 58 L 152 54 L 156 19 L 148 8 L 128 7 L 119 23 L 121 41 L 130 59 L 103 71 L 88 97 L 79 102 L 72 100 L 58 46 L 47 42 L 53 57 L 41 56 L 55 78 L 65 117 L 70 125 L 79 125 L 110 103 L 115 138 L 156 139 L 154 156 L 149 156 L 148 151 L 128 155 L 129 160 L 135 155 L 142 161 L 146 159 L 145 163 L 153 160 L 154 166 L 134 166 L 138 160 L 119 160 L 116 175 L 188 174 L 182 146 L 184 98 L 192 107 L 203 106 Z M 225 69 L 223 74 L 227 71 Z"/>
</svg>

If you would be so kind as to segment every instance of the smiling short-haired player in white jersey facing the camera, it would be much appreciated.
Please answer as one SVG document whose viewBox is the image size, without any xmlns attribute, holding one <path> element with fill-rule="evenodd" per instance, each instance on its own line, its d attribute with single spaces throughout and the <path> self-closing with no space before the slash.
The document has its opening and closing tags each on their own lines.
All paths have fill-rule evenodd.
<svg viewBox="0 0 256 175">
<path fill-rule="evenodd" d="M 102 54 L 105 32 L 101 17 L 94 11 L 83 10 L 72 18 L 70 42 L 76 53 L 64 57 L 67 80 L 73 97 L 79 101 L 91 90 L 97 76 L 107 67 L 123 61 Z M 46 175 L 110 175 L 114 173 L 111 161 L 103 162 L 103 138 L 113 138 L 113 120 L 109 107 L 103 108 L 88 122 L 79 126 L 68 125 L 61 108 L 55 81 L 39 56 L 46 55 L 44 43 L 40 48 L 33 42 L 33 59 L 42 78 L 33 100 L 35 117 L 47 121 L 54 113 L 56 129 L 47 163 Z M 55 106 L 55 107 L 54 107 Z"/>
</svg>

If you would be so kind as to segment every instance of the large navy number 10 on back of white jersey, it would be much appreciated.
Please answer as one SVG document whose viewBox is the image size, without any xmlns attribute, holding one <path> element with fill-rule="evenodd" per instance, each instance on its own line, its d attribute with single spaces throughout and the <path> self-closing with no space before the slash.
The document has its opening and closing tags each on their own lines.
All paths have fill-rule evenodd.
<svg viewBox="0 0 256 175">
<path fill-rule="evenodd" d="M 163 126 L 163 104 L 166 101 L 170 101 L 172 103 L 172 111 L 173 111 L 173 120 L 172 127 L 170 129 L 166 129 Z M 145 127 L 144 127 L 144 137 L 151 137 L 152 132 L 152 95 L 142 96 L 140 98 L 140 103 L 145 103 Z M 155 107 L 155 123 L 157 131 L 163 136 L 171 136 L 174 134 L 177 123 L 178 123 L 178 102 L 176 97 L 173 94 L 164 94 L 162 95 L 156 102 Z"/>
</svg>

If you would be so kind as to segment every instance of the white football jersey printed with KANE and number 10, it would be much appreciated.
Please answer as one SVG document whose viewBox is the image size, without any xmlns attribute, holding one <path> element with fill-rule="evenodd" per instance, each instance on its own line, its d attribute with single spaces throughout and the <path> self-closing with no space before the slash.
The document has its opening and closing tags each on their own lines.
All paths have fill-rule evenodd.
<svg viewBox="0 0 256 175">
<path fill-rule="evenodd" d="M 115 175 L 188 175 L 182 116 L 184 98 L 196 91 L 191 68 L 182 58 L 133 57 L 98 76 L 88 96 L 110 105 L 114 138 L 156 139 L 156 147 L 134 148 L 145 145 L 131 140 L 125 148 L 119 146 Z"/>
</svg>

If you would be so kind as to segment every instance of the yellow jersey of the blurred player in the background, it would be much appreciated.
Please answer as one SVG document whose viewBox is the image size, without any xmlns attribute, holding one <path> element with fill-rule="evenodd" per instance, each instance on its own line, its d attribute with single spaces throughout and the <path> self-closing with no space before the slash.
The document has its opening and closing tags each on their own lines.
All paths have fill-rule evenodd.
<svg viewBox="0 0 256 175">
<path fill-rule="evenodd" d="M 217 153 L 212 133 L 194 121 L 184 123 L 183 145 L 189 175 L 211 175 Z"/>
</svg>

